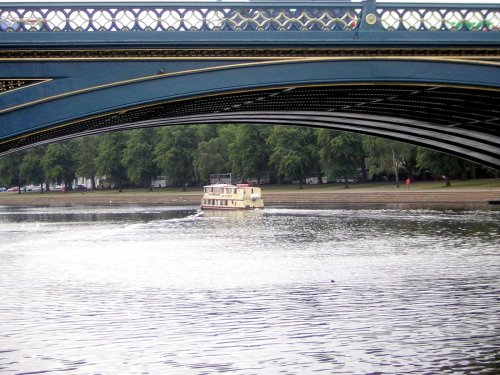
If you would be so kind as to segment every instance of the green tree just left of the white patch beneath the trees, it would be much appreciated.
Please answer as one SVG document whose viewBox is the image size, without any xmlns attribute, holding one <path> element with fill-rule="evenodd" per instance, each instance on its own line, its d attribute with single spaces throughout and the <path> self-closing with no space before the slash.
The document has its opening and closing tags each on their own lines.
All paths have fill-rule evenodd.
<svg viewBox="0 0 500 375">
<path fill-rule="evenodd" d="M 47 146 L 41 164 L 45 172 L 45 180 L 64 184 L 66 189 L 72 188 L 76 175 L 74 143 L 58 142 Z"/>
</svg>

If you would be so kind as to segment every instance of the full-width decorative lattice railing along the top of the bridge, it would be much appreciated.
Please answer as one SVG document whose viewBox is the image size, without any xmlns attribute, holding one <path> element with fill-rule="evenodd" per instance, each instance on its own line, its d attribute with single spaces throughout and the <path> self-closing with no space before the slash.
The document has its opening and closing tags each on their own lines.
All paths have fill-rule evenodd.
<svg viewBox="0 0 500 375">
<path fill-rule="evenodd" d="M 485 4 L 350 2 L 4 3 L 0 32 L 500 31 Z"/>
</svg>

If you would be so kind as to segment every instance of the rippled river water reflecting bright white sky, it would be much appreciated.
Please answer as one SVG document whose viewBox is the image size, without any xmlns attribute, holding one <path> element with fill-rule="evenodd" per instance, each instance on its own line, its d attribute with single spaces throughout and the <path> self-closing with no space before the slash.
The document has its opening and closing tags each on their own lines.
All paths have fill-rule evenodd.
<svg viewBox="0 0 500 375">
<path fill-rule="evenodd" d="M 498 373 L 499 224 L 0 207 L 0 373 Z"/>
</svg>

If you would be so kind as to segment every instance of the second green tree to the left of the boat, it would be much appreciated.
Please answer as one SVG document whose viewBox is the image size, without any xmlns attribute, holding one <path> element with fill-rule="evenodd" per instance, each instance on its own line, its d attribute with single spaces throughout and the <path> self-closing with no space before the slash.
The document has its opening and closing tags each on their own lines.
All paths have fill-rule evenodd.
<svg viewBox="0 0 500 375">
<path fill-rule="evenodd" d="M 128 178 L 153 191 L 152 180 L 158 176 L 158 166 L 154 160 L 156 129 L 137 129 L 130 133 L 123 164 Z"/>
</svg>

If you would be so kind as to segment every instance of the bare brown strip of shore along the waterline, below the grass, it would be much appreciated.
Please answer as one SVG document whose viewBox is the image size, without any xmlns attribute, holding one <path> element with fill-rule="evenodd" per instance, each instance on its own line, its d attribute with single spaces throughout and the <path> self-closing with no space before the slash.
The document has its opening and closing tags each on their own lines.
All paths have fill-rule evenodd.
<svg viewBox="0 0 500 375">
<path fill-rule="evenodd" d="M 440 189 L 393 190 L 287 190 L 265 191 L 267 207 L 302 206 L 330 207 L 335 205 L 453 205 L 469 207 L 488 205 L 500 200 L 500 188 L 491 189 Z M 109 205 L 199 205 L 201 192 L 72 192 L 67 194 L 1 193 L 0 206 L 109 206 Z"/>
</svg>

